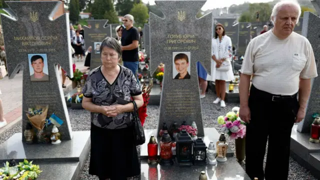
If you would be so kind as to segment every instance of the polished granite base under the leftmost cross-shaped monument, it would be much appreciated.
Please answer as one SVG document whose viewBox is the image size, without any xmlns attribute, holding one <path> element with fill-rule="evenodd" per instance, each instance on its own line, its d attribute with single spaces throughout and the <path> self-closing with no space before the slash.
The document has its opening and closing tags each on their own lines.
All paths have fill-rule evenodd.
<svg viewBox="0 0 320 180">
<path fill-rule="evenodd" d="M 21 136 L 21 133 L 15 133 L 0 144 L 0 163 L 12 158 L 34 162 L 82 161 L 90 144 L 90 131 L 73 131 L 71 140 L 59 144 L 25 144 Z"/>
</svg>

